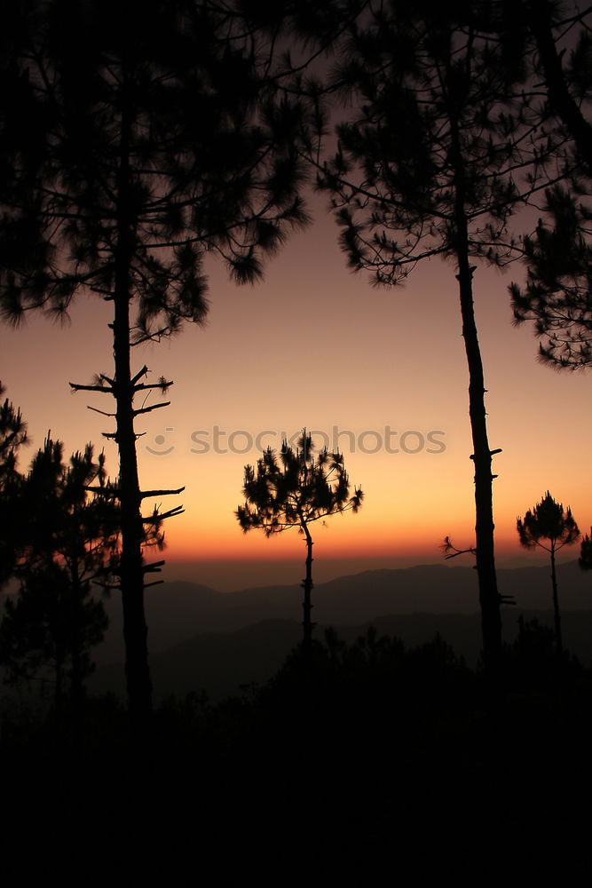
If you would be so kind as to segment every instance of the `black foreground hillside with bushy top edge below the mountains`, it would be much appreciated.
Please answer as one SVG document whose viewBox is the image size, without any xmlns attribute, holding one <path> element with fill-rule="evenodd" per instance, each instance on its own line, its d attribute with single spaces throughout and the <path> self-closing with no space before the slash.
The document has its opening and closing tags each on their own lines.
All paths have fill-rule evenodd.
<svg viewBox="0 0 592 888">
<path fill-rule="evenodd" d="M 9 712 L 6 860 L 24 884 L 39 870 L 59 884 L 530 884 L 557 867 L 569 881 L 588 856 L 591 715 L 590 671 L 528 623 L 495 689 L 440 638 L 368 630 L 328 633 L 257 692 L 170 699 L 133 741 L 112 698 L 37 724 Z"/>
</svg>

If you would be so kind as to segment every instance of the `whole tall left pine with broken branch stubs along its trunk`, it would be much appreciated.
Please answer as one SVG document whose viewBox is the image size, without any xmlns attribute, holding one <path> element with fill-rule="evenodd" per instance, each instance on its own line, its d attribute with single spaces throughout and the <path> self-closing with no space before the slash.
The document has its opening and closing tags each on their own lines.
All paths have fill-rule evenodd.
<svg viewBox="0 0 592 888">
<path fill-rule="evenodd" d="M 2 193 L 2 305 L 12 321 L 39 306 L 63 315 L 80 290 L 113 305 L 114 373 L 73 388 L 115 400 L 106 434 L 120 456 L 126 674 L 132 723 L 141 725 L 152 706 L 145 575 L 163 562 L 144 562 L 154 515 L 140 507 L 183 488 L 139 486 L 135 419 L 168 402 L 134 400 L 170 382 L 146 383 L 132 348 L 204 320 L 207 253 L 235 281 L 255 281 L 286 230 L 304 224 L 303 120 L 294 101 L 273 99 L 266 47 L 232 4 L 134 0 L 122 11 L 114 0 L 48 0 L 31 10 L 8 68 L 25 84 L 24 107 L 35 101 L 43 121 L 43 159 L 31 160 L 20 140 L 8 152 L 22 188 Z M 18 130 L 18 108 L 3 110 L 5 130 Z M 39 243 L 33 268 L 10 249 L 14 218 Z"/>
</svg>

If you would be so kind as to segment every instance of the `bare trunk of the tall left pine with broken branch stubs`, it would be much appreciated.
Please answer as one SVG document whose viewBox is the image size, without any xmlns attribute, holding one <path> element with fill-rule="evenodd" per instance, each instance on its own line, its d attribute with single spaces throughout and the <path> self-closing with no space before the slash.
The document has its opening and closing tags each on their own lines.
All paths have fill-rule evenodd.
<svg viewBox="0 0 592 888">
<path fill-rule="evenodd" d="M 130 264 L 133 256 L 134 217 L 130 196 L 129 113 L 122 112 L 120 169 L 117 182 L 117 242 L 114 250 L 114 395 L 115 441 L 119 448 L 122 558 L 120 567 L 125 673 L 132 729 L 140 729 L 152 712 L 152 683 L 148 669 L 147 628 L 144 614 L 144 526 L 140 505 L 138 456 L 134 431 L 134 387 L 130 367 Z"/>
</svg>

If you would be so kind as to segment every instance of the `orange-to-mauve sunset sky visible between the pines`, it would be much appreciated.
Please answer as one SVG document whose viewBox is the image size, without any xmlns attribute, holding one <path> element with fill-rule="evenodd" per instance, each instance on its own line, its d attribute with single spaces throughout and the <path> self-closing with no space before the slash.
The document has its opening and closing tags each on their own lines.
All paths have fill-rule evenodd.
<svg viewBox="0 0 592 888">
<path fill-rule="evenodd" d="M 170 407 L 138 422 L 138 432 L 146 432 L 138 440 L 142 486 L 186 488 L 162 501 L 185 506 L 167 527 L 168 579 L 187 575 L 183 562 L 200 561 L 190 570 L 197 581 L 229 587 L 225 565 L 253 559 L 241 581 L 253 584 L 264 580 L 257 559 L 304 557 L 296 530 L 272 539 L 243 535 L 233 515 L 244 464 L 260 453 L 257 433 L 269 432 L 261 443 L 279 447 L 281 432 L 303 426 L 342 433 L 351 481 L 365 492 L 359 514 L 315 528 L 315 555 L 335 574 L 343 573 L 343 559 L 375 567 L 439 560 L 446 534 L 462 547 L 474 541 L 468 371 L 454 266 L 434 259 L 417 266 L 405 286 L 374 289 L 366 274 L 347 270 L 325 199 L 313 196 L 309 207 L 314 224 L 289 238 L 263 283 L 237 287 L 212 265 L 207 325 L 187 325 L 177 337 L 135 350 L 135 367 L 146 363 L 152 381 L 174 380 Z M 490 443 L 503 449 L 493 468 L 500 563 L 520 555 L 516 517 L 548 488 L 572 507 L 582 531 L 592 523 L 590 377 L 541 366 L 532 326 L 512 326 L 508 285 L 523 277 L 517 264 L 504 274 L 479 266 L 474 277 Z M 105 447 L 116 474 L 114 444 L 101 438 L 113 421 L 87 409 L 110 410 L 109 397 L 72 394 L 67 385 L 112 372 L 108 321 L 109 305 L 80 296 L 66 326 L 29 315 L 19 329 L 1 329 L 0 378 L 31 438 L 21 468 L 51 429 L 67 454 L 89 440 Z M 233 432 L 235 449 L 253 446 L 214 452 L 216 426 L 218 450 L 228 450 Z M 387 426 L 391 448 L 403 437 L 404 448 L 419 452 L 386 452 L 380 445 Z M 353 448 L 344 432 L 352 432 Z M 438 432 L 444 448 L 432 449 L 442 452 L 426 452 L 429 432 Z M 196 444 L 198 437 L 206 444 Z M 206 445 L 209 452 L 192 452 Z M 523 557 L 539 563 L 527 552 Z"/>
</svg>

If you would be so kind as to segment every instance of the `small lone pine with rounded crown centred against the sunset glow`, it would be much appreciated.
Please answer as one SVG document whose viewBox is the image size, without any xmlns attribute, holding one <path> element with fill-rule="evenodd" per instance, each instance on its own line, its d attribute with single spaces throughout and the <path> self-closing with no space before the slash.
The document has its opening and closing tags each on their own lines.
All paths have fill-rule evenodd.
<svg viewBox="0 0 592 888">
<path fill-rule="evenodd" d="M 306 538 L 306 576 L 304 589 L 304 648 L 312 644 L 312 535 L 313 521 L 337 512 L 358 511 L 362 502 L 361 488 L 350 496 L 350 481 L 343 467 L 343 454 L 330 453 L 327 448 L 312 456 L 315 446 L 304 429 L 296 451 L 284 440 L 280 461 L 272 448 L 264 451 L 257 467 L 245 466 L 244 506 L 235 515 L 245 533 L 255 527 L 266 536 L 298 527 Z"/>
</svg>

